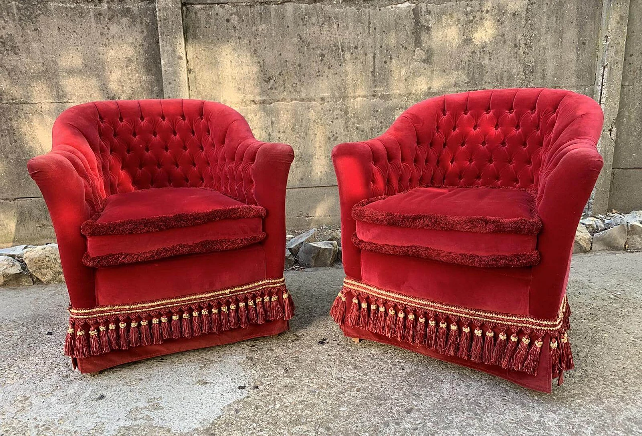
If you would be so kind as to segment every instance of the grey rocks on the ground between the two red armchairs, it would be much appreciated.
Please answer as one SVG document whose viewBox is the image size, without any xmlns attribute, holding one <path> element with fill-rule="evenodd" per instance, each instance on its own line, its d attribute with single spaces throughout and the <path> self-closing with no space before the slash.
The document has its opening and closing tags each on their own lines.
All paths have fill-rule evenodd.
<svg viewBox="0 0 642 436">
<path fill-rule="evenodd" d="M 341 231 L 313 228 L 299 235 L 286 236 L 285 269 L 297 263 L 302 267 L 329 267 L 341 260 Z"/>
</svg>

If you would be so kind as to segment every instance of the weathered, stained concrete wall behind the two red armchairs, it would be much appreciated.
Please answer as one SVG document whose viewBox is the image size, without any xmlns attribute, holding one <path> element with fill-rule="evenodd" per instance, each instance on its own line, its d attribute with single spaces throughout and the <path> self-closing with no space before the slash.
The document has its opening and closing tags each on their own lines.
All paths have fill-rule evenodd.
<svg viewBox="0 0 642 436">
<path fill-rule="evenodd" d="M 610 2 L 0 1 L 0 245 L 53 239 L 26 160 L 51 147 L 58 113 L 94 99 L 183 96 L 238 109 L 257 138 L 295 148 L 288 227 L 336 224 L 332 147 L 379 135 L 417 101 L 496 87 L 596 96 Z M 635 38 L 627 48 L 639 50 Z M 626 166 L 642 167 L 630 158 L 632 149 L 642 159 L 640 62 L 632 47 L 617 83 L 630 113 L 618 131 L 630 133 L 607 174 L 614 202 L 623 177 L 642 187 Z"/>
</svg>

